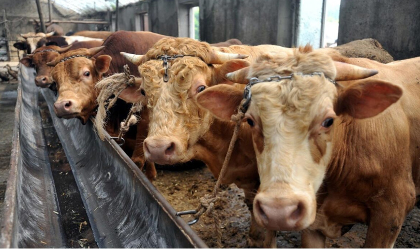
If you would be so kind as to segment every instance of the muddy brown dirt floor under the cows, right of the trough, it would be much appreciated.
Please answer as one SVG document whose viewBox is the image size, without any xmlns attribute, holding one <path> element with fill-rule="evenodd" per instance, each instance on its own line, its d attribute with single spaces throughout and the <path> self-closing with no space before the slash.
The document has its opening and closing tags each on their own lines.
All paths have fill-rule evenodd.
<svg viewBox="0 0 420 249">
<path fill-rule="evenodd" d="M 158 170 L 155 186 L 176 211 L 192 210 L 199 205 L 199 198 L 213 189 L 216 180 L 206 167 L 188 171 Z M 215 210 L 221 218 L 222 243 L 224 248 L 246 248 L 250 212 L 244 203 L 244 192 L 235 184 L 224 186 Z M 185 220 L 191 220 L 189 215 Z M 194 231 L 210 247 L 216 247 L 213 221 L 203 215 L 192 225 Z M 348 233 L 336 240 L 327 239 L 328 248 L 361 248 L 366 238 L 367 226 L 355 225 Z M 420 247 L 420 210 L 415 208 L 406 218 L 394 248 Z M 278 232 L 277 248 L 300 248 L 300 234 Z"/>
</svg>

